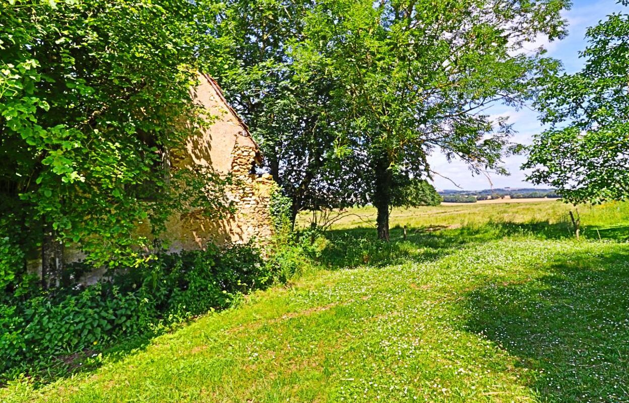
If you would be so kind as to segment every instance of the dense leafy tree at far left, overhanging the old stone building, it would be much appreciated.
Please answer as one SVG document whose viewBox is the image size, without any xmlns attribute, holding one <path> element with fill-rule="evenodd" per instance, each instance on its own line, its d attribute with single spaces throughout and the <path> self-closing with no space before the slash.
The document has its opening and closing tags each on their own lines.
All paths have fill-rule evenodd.
<svg viewBox="0 0 629 403">
<path fill-rule="evenodd" d="M 158 3 L 3 3 L 0 238 L 25 252 L 23 266 L 41 251 L 45 286 L 66 243 L 97 265 L 133 263 L 150 246 L 139 222 L 158 235 L 174 211 L 220 209 L 211 172 L 169 170 L 189 135 L 182 117 L 204 123 L 189 89 L 217 53 L 213 6 Z"/>
</svg>

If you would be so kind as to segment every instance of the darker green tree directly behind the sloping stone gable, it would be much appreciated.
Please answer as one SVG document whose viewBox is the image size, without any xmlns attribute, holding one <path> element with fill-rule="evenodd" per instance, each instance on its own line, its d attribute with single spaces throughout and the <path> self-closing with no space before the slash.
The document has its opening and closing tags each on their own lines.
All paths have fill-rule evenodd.
<svg viewBox="0 0 629 403">
<path fill-rule="evenodd" d="M 294 57 L 312 1 L 230 0 L 217 35 L 226 43 L 226 97 L 250 126 L 266 168 L 291 199 L 291 221 L 321 200 L 315 183 L 333 153 L 334 84 L 315 59 Z"/>
</svg>

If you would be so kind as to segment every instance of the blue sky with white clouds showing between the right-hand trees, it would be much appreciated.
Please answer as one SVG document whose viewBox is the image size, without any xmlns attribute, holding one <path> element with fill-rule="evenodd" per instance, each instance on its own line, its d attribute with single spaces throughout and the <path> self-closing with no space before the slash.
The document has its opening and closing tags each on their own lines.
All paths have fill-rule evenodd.
<svg viewBox="0 0 629 403">
<path fill-rule="evenodd" d="M 572 8 L 562 14 L 568 22 L 568 36 L 561 41 L 548 42 L 541 38 L 531 45 L 531 48 L 540 46 L 548 50 L 547 55 L 561 60 L 564 69 L 568 73 L 573 73 L 581 69 L 584 60 L 579 58 L 579 50 L 583 50 L 587 43 L 585 40 L 586 29 L 589 26 L 597 25 L 599 21 L 605 19 L 611 13 L 623 11 L 627 8 L 616 3 L 616 0 L 575 0 Z M 625 11 L 626 12 L 626 11 Z M 513 124 L 516 131 L 513 141 L 529 145 L 533 135 L 542 130 L 538 121 L 538 114 L 530 108 L 523 108 L 516 111 L 505 106 L 494 106 L 488 109 L 487 113 L 492 116 L 509 116 L 509 123 Z M 504 161 L 505 167 L 511 175 L 484 175 L 474 176 L 463 162 L 448 162 L 443 155 L 435 153 L 429 162 L 431 168 L 443 175 L 435 176 L 433 185 L 438 190 L 457 189 L 458 185 L 465 190 L 490 189 L 491 187 L 538 187 L 525 181 L 526 172 L 520 170 L 520 165 L 525 162 L 523 155 L 512 156 Z M 449 178 L 450 180 L 446 179 Z M 453 182 L 456 184 L 454 185 Z"/>
</svg>

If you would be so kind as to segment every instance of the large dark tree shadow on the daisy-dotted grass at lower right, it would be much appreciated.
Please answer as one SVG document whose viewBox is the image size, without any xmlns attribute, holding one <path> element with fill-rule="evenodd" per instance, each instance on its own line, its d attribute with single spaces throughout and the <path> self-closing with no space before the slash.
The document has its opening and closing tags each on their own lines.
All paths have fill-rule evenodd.
<svg viewBox="0 0 629 403">
<path fill-rule="evenodd" d="M 538 279 L 469 292 L 467 329 L 535 370 L 542 401 L 629 402 L 629 250 L 547 264 Z"/>
</svg>

